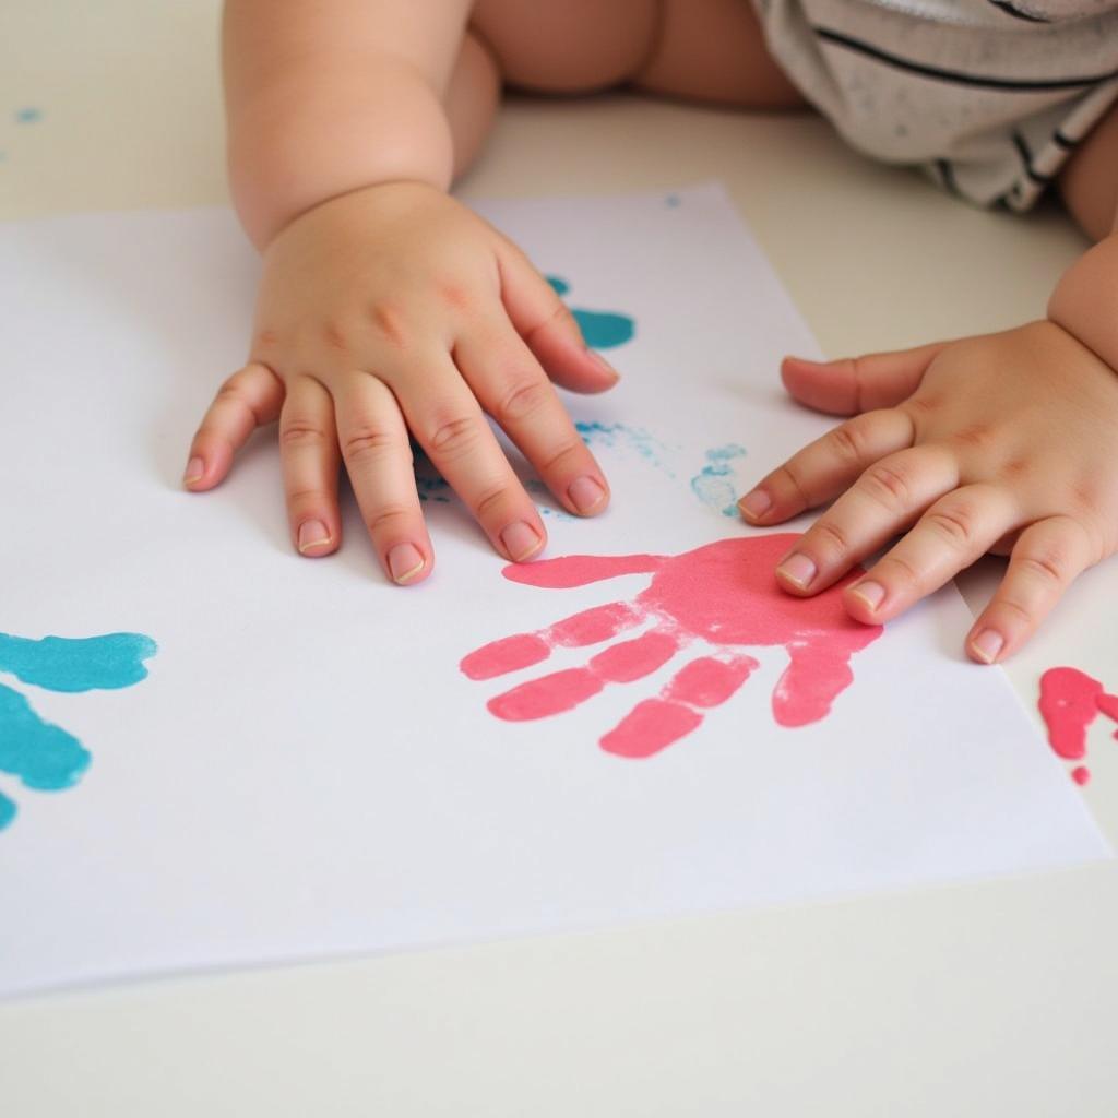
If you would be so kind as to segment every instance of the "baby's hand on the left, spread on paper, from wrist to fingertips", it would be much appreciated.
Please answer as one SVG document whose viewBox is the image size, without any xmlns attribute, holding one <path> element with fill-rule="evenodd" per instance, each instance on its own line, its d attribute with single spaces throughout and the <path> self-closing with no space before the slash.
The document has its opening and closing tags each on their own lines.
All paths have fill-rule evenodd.
<svg viewBox="0 0 1118 1118">
<path fill-rule="evenodd" d="M 420 183 L 369 187 L 296 218 L 267 247 L 249 361 L 206 413 L 184 482 L 211 489 L 253 429 L 278 417 L 295 547 L 337 549 L 341 458 L 385 569 L 417 581 L 432 546 L 410 432 L 494 547 L 527 559 L 543 525 L 486 415 L 570 512 L 608 500 L 549 377 L 582 392 L 617 379 L 481 218 Z"/>
</svg>

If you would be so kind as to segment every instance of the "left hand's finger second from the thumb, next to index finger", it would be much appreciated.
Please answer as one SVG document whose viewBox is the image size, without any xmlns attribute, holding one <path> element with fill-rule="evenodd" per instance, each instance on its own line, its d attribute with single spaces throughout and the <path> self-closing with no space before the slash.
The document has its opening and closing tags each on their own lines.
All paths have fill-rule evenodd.
<svg viewBox="0 0 1118 1118">
<path fill-rule="evenodd" d="M 513 562 L 542 550 L 540 514 L 498 445 L 481 406 L 451 361 L 434 353 L 400 378 L 400 409 L 416 442 L 462 498 L 493 546 Z"/>
</svg>

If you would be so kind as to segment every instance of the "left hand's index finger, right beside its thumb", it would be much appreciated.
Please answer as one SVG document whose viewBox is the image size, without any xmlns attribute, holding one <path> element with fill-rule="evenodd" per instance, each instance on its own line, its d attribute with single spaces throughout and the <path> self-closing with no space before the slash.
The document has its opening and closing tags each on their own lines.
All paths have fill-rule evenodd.
<svg viewBox="0 0 1118 1118">
<path fill-rule="evenodd" d="M 609 501 L 605 474 L 531 350 L 508 323 L 462 339 L 454 360 L 482 407 L 565 508 L 584 517 L 601 512 Z"/>
</svg>

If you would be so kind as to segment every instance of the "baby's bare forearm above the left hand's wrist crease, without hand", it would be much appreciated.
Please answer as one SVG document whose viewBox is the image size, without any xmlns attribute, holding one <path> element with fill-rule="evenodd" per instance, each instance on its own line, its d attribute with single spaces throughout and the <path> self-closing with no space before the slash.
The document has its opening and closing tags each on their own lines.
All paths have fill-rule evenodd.
<svg viewBox="0 0 1118 1118">
<path fill-rule="evenodd" d="M 446 188 L 443 108 L 470 0 L 229 0 L 229 179 L 266 244 L 319 202 L 377 182 Z"/>
</svg>

